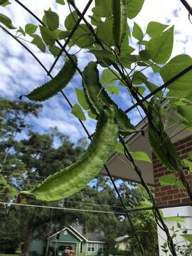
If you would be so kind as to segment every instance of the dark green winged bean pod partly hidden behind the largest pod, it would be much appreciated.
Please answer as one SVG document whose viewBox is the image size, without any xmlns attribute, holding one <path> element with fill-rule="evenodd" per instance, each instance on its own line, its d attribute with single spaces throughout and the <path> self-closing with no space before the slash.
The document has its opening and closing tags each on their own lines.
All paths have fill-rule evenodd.
<svg viewBox="0 0 192 256">
<path fill-rule="evenodd" d="M 117 122 L 119 131 L 122 134 L 130 134 L 134 130 L 134 126 L 129 121 L 127 115 L 118 108 L 113 100 L 107 95 L 104 87 L 100 84 L 99 72 L 97 64 L 90 62 L 83 71 L 82 85 L 85 90 L 87 102 L 94 114 L 100 115 L 102 107 L 105 105 L 114 105 L 117 108 Z"/>
</svg>

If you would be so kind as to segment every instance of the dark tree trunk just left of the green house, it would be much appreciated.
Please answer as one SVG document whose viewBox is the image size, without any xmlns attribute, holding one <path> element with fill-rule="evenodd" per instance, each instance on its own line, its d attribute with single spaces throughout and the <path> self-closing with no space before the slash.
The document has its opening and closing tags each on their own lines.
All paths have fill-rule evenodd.
<svg viewBox="0 0 192 256">
<path fill-rule="evenodd" d="M 24 243 L 22 248 L 22 256 L 29 255 L 29 246 L 33 238 L 34 226 L 33 226 L 33 217 L 29 218 L 26 223 L 26 232 L 24 233 Z"/>
</svg>

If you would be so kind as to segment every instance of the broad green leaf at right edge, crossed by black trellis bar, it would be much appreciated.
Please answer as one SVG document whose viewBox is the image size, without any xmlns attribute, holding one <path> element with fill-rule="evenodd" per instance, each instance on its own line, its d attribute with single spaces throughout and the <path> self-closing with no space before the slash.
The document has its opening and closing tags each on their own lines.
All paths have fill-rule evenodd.
<svg viewBox="0 0 192 256">
<path fill-rule="evenodd" d="M 160 70 L 161 78 L 164 82 L 174 78 L 175 75 L 180 73 L 185 68 L 188 68 L 192 65 L 192 58 L 189 55 L 181 54 L 172 58 L 169 63 L 164 65 Z M 170 96 L 176 97 L 186 97 L 190 95 L 191 92 L 191 75 L 192 70 L 188 71 L 185 75 L 182 75 L 181 78 L 178 78 L 169 85 L 169 90 L 171 92 Z M 190 99 L 190 97 L 188 98 Z"/>
</svg>

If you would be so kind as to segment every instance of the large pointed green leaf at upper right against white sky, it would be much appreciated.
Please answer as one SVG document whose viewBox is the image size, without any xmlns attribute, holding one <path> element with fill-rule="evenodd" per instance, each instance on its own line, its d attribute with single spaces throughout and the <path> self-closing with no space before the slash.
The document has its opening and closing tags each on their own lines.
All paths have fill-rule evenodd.
<svg viewBox="0 0 192 256">
<path fill-rule="evenodd" d="M 157 64 L 164 64 L 169 60 L 174 44 L 174 26 L 171 26 L 160 36 L 151 38 L 146 50 L 151 52 L 151 60 Z"/>
</svg>

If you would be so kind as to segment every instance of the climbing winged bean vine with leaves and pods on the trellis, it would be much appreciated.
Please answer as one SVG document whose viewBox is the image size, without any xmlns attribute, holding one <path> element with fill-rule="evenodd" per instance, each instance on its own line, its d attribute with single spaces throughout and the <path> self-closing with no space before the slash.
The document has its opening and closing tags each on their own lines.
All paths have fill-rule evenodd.
<svg viewBox="0 0 192 256">
<path fill-rule="evenodd" d="M 46 178 L 32 191 L 23 191 L 18 195 L 18 201 L 25 196 L 33 196 L 43 201 L 66 198 L 84 188 L 86 183 L 101 171 L 113 153 L 116 151 L 123 153 L 132 163 L 134 171 L 137 172 L 151 198 L 156 223 L 166 233 L 167 245 L 172 255 L 176 255 L 169 229 L 142 177 L 142 171 L 135 163 L 138 159 L 151 160 L 145 152 L 130 152 L 124 142 L 123 136 L 136 132 L 144 135 L 144 131 L 134 127 L 132 120 L 129 119 L 129 109 L 124 111 L 127 106 L 122 110 L 112 100 L 113 94 L 121 96 L 121 88 L 126 89 L 127 100 L 132 99 L 134 103 L 130 110 L 139 107 L 139 114 L 142 110 L 148 120 L 147 132 L 151 148 L 161 164 L 172 171 L 171 176 L 167 174 L 161 177 L 161 181 L 181 188 L 192 201 L 192 188 L 183 174 L 183 171 L 192 171 L 191 161 L 182 161 L 179 158 L 171 138 L 166 133 L 167 125 L 177 125 L 181 130 L 191 130 L 192 127 L 192 59 L 189 55 L 181 54 L 169 60 L 174 44 L 174 26 L 158 21 L 149 22 L 146 31 L 142 31 L 136 22 L 133 27 L 129 26 L 130 20 L 142 11 L 144 0 L 95 0 L 90 16 L 85 14 L 92 0 L 87 1 L 82 13 L 75 5 L 75 1 L 56 0 L 55 4 L 58 6 L 68 4 L 70 14 L 65 17 L 65 21 L 61 21 L 52 9 L 46 10 L 43 17 L 37 17 L 18 0 L 1 0 L 0 5 L 6 8 L 14 2 L 28 11 L 28 14 L 39 24 L 28 23 L 23 28 L 21 26 L 16 28 L 11 18 L 0 14 L 0 27 L 26 50 L 28 50 L 27 45 L 21 43 L 25 38 L 38 50 L 45 54 L 50 53 L 55 58 L 50 70 L 47 70 L 36 55 L 28 50 L 51 80 L 32 92 L 29 91 L 25 96 L 29 100 L 42 102 L 61 92 L 72 107 L 71 113 L 78 117 L 89 139 L 92 139 L 85 156 L 82 156 L 78 163 Z M 64 23 L 62 28 L 60 23 Z M 136 43 L 132 44 L 132 39 Z M 77 47 L 79 50 L 86 50 L 92 58 L 83 70 L 79 68 L 76 56 L 78 53 L 74 53 L 73 50 Z M 63 54 L 65 55 L 63 68 L 53 78 L 51 72 L 58 59 L 63 58 Z M 165 82 L 164 85 L 159 87 L 151 82 L 147 76 L 148 70 L 154 76 L 160 75 Z M 82 88 L 74 87 L 78 104 L 71 105 L 63 89 L 75 73 L 79 73 L 82 78 Z M 162 108 L 162 102 L 166 107 Z M 93 135 L 87 132 L 83 124 L 87 115 L 97 120 Z M 105 169 L 110 175 L 107 166 Z M 117 187 L 115 189 L 117 191 Z M 118 191 L 117 194 L 122 201 Z M 124 206 L 123 201 L 122 205 Z M 129 218 L 128 213 L 127 217 Z M 129 221 L 134 228 L 131 218 Z M 137 238 L 137 233 L 135 236 Z M 138 238 L 137 242 L 139 242 Z M 142 245 L 140 249 L 142 255 L 145 255 Z"/>
</svg>

